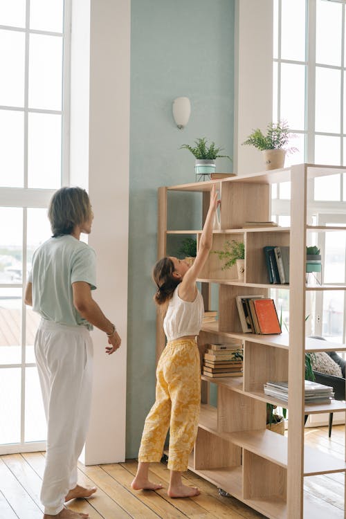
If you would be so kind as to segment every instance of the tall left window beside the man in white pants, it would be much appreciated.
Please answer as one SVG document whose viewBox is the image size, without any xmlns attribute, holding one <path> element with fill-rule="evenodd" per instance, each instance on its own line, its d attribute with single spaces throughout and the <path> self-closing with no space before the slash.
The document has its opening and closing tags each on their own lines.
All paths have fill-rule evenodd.
<svg viewBox="0 0 346 519">
<path fill-rule="evenodd" d="M 0 0 L 0 453 L 39 449 L 46 438 L 39 318 L 23 296 L 33 251 L 50 236 L 48 201 L 69 179 L 70 8 Z"/>
</svg>

